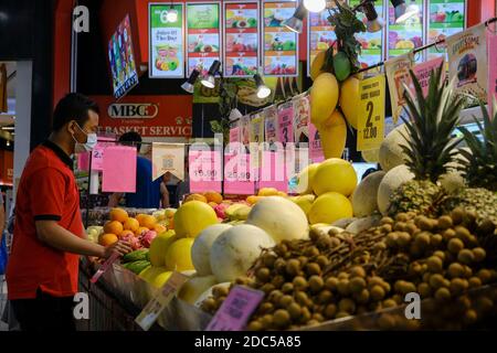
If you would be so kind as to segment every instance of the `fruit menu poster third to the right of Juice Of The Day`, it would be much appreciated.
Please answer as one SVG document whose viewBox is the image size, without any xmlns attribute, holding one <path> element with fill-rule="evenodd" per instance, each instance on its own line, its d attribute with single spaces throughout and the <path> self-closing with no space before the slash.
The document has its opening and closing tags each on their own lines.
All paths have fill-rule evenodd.
<svg viewBox="0 0 497 353">
<path fill-rule="evenodd" d="M 298 34 L 283 25 L 293 17 L 296 7 L 294 1 L 265 1 L 263 4 L 265 76 L 298 75 Z"/>
</svg>

